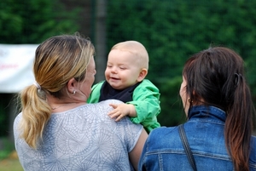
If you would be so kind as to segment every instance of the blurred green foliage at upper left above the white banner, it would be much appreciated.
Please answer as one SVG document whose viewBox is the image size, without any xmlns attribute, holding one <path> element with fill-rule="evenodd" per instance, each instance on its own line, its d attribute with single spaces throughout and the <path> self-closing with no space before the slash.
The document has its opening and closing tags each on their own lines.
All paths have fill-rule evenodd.
<svg viewBox="0 0 256 171">
<path fill-rule="evenodd" d="M 44 39 L 73 33 L 79 9 L 64 10 L 58 0 L 2 0 L 0 43 L 41 43 Z"/>
</svg>

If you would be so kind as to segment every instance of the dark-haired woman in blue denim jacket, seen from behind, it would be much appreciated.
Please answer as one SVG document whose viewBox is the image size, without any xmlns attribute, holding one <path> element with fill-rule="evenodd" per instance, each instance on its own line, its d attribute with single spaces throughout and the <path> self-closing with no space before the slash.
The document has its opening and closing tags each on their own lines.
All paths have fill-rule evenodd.
<svg viewBox="0 0 256 171">
<path fill-rule="evenodd" d="M 255 111 L 234 50 L 208 48 L 190 57 L 180 96 L 188 121 L 154 129 L 139 170 L 256 170 Z"/>
</svg>

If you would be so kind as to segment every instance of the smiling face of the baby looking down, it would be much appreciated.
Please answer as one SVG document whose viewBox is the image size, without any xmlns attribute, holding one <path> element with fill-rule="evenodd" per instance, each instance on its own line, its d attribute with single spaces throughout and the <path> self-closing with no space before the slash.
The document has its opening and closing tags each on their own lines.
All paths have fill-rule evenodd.
<svg viewBox="0 0 256 171">
<path fill-rule="evenodd" d="M 136 84 L 140 71 L 135 54 L 119 49 L 108 54 L 105 77 L 113 88 L 124 89 Z"/>
</svg>

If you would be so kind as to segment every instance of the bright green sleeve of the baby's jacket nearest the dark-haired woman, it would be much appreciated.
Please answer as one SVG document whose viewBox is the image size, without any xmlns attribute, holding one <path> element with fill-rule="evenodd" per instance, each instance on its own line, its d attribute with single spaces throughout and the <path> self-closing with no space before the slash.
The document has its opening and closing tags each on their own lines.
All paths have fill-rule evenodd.
<svg viewBox="0 0 256 171">
<path fill-rule="evenodd" d="M 149 80 L 144 79 L 133 91 L 133 101 L 137 117 L 131 117 L 133 123 L 141 123 L 147 132 L 160 127 L 157 116 L 160 114 L 160 92 Z"/>
</svg>

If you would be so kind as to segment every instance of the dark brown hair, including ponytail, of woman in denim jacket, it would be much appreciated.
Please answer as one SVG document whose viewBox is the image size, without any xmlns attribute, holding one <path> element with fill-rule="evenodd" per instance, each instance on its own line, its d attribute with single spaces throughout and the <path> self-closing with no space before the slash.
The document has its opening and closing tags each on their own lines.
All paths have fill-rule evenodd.
<svg viewBox="0 0 256 171">
<path fill-rule="evenodd" d="M 226 112 L 225 143 L 234 167 L 249 170 L 255 110 L 240 55 L 230 48 L 208 48 L 187 60 L 183 77 L 193 104 L 203 100 L 200 102 Z"/>
</svg>

